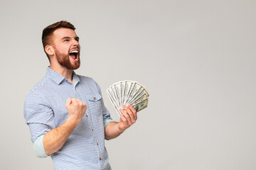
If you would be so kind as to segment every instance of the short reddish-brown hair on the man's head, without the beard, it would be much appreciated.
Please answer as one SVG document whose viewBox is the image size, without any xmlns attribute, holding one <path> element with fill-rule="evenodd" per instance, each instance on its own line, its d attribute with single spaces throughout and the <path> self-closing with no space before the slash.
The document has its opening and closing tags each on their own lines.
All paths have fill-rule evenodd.
<svg viewBox="0 0 256 170">
<path fill-rule="evenodd" d="M 51 35 L 53 35 L 53 32 L 58 28 L 70 28 L 72 30 L 75 30 L 75 27 L 71 23 L 68 23 L 67 21 L 58 21 L 57 23 L 53 23 L 52 25 L 44 28 L 43 34 L 42 34 L 43 50 L 45 50 L 46 45 L 50 45 Z M 46 55 L 49 59 L 49 56 L 47 53 Z"/>
</svg>

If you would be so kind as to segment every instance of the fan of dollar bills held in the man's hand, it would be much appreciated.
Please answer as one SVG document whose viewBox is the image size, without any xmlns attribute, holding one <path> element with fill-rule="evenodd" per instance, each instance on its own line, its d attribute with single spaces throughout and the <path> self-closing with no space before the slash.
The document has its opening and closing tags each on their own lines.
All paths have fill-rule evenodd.
<svg viewBox="0 0 256 170">
<path fill-rule="evenodd" d="M 122 114 L 119 108 L 122 108 L 124 105 L 131 105 L 139 112 L 146 108 L 149 101 L 148 91 L 137 81 L 119 81 L 107 89 L 107 95 L 118 115 Z"/>
</svg>

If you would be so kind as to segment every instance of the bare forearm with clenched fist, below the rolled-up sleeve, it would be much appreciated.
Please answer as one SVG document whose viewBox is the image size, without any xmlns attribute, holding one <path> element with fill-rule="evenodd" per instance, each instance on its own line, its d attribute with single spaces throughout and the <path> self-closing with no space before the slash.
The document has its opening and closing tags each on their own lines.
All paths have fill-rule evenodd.
<svg viewBox="0 0 256 170">
<path fill-rule="evenodd" d="M 71 132 L 73 132 L 78 123 L 80 123 L 87 109 L 85 103 L 77 98 L 68 98 L 65 107 L 68 110 L 68 119 L 58 128 L 47 132 L 43 137 L 43 147 L 48 155 L 57 152 L 63 147 Z"/>
</svg>

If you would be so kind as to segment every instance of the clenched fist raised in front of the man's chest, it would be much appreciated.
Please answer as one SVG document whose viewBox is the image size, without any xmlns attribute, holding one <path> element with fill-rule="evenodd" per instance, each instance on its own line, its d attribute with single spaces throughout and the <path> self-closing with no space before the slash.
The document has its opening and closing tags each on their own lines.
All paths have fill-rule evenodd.
<svg viewBox="0 0 256 170">
<path fill-rule="evenodd" d="M 79 123 L 82 116 L 85 115 L 87 105 L 78 98 L 68 98 L 65 103 L 65 108 L 67 109 L 70 118 Z"/>
</svg>

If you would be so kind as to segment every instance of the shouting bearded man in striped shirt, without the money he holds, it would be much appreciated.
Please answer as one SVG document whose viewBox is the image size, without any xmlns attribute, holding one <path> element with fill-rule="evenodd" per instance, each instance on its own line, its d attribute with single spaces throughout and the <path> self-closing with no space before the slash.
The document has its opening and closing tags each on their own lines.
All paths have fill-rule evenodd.
<svg viewBox="0 0 256 170">
<path fill-rule="evenodd" d="M 100 86 L 73 72 L 80 67 L 75 27 L 59 21 L 46 27 L 43 47 L 50 61 L 46 77 L 29 92 L 24 117 L 37 157 L 53 159 L 55 169 L 111 169 L 105 139 L 119 136 L 137 120 L 132 106 L 110 118 Z"/>
</svg>

